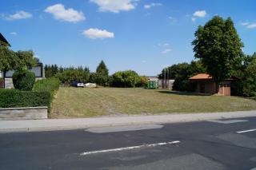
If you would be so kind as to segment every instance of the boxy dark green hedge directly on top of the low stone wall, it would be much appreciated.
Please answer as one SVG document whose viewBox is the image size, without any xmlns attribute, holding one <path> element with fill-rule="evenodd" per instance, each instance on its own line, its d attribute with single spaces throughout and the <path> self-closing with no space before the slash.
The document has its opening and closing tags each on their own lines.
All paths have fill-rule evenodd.
<svg viewBox="0 0 256 170">
<path fill-rule="evenodd" d="M 0 89 L 0 108 L 50 106 L 50 93 Z"/>
</svg>

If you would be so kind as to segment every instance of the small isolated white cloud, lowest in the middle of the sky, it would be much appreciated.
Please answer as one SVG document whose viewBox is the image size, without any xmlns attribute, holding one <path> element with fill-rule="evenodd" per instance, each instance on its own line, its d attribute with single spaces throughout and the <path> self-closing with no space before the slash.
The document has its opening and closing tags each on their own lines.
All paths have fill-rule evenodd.
<svg viewBox="0 0 256 170">
<path fill-rule="evenodd" d="M 82 32 L 86 38 L 90 39 L 104 39 L 104 38 L 114 38 L 114 33 L 107 30 L 99 30 L 97 28 L 90 28 L 89 30 L 84 30 Z"/>
</svg>

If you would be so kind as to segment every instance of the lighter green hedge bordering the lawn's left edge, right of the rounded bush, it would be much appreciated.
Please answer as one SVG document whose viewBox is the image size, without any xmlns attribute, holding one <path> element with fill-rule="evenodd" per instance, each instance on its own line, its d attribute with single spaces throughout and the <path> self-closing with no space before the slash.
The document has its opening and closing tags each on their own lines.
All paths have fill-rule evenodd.
<svg viewBox="0 0 256 170">
<path fill-rule="evenodd" d="M 46 78 L 39 81 L 36 81 L 34 84 L 33 91 L 35 92 L 48 92 L 50 93 L 51 100 L 54 97 L 55 91 L 58 90 L 60 81 L 58 78 Z"/>
</svg>

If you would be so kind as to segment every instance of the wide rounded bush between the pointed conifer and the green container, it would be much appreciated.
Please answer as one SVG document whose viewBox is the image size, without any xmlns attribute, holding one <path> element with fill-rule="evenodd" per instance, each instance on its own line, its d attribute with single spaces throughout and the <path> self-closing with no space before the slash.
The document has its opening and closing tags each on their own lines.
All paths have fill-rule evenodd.
<svg viewBox="0 0 256 170">
<path fill-rule="evenodd" d="M 114 87 L 135 87 L 140 82 L 140 77 L 132 70 L 119 71 L 113 74 L 111 81 L 111 86 Z"/>
</svg>

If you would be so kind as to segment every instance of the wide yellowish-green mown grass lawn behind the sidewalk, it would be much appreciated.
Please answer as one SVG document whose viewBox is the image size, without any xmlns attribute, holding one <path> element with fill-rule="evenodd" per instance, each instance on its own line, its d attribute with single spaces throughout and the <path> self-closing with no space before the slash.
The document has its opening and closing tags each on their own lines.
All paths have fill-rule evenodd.
<svg viewBox="0 0 256 170">
<path fill-rule="evenodd" d="M 256 109 L 242 97 L 200 96 L 158 89 L 60 88 L 50 117 L 96 117 L 118 114 L 209 113 Z"/>
</svg>

